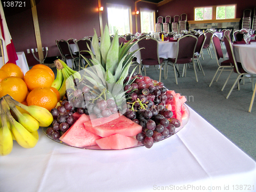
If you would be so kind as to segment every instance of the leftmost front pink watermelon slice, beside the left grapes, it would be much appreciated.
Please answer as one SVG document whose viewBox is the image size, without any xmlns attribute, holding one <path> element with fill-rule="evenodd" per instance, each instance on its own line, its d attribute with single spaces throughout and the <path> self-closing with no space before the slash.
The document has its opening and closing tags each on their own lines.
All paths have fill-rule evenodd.
<svg viewBox="0 0 256 192">
<path fill-rule="evenodd" d="M 82 114 L 59 140 L 76 147 L 96 145 L 95 141 L 101 137 L 84 129 L 84 122 L 89 120 L 88 115 Z"/>
</svg>

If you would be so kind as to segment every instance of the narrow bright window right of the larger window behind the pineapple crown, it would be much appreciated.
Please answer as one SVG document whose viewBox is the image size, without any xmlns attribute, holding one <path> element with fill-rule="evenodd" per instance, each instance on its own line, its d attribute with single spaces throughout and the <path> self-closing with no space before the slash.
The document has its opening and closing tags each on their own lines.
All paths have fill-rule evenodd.
<svg viewBox="0 0 256 192">
<path fill-rule="evenodd" d="M 155 11 L 149 9 L 140 9 L 141 33 L 150 33 L 155 31 Z"/>
</svg>

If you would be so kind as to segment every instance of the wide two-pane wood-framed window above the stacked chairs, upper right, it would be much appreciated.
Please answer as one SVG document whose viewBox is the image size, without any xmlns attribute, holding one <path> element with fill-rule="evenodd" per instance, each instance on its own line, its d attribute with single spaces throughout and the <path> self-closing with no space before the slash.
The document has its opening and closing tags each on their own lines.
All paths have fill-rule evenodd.
<svg viewBox="0 0 256 192">
<path fill-rule="evenodd" d="M 196 7 L 194 10 L 195 20 L 236 18 L 236 5 Z"/>
</svg>

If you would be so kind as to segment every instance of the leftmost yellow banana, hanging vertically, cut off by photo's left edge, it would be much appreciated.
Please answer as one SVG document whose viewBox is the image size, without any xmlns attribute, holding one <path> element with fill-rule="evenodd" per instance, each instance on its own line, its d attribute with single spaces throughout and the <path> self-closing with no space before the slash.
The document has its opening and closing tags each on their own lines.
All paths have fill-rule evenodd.
<svg viewBox="0 0 256 192">
<path fill-rule="evenodd" d="M 4 99 L 1 99 L 1 100 L 4 100 Z M 6 115 L 4 114 L 5 112 L 2 111 L 2 106 L 0 106 L 0 113 L 1 113 L 1 120 L 3 125 L 0 128 L 0 155 L 5 156 L 12 152 L 13 140 L 12 140 L 12 133 L 7 126 L 7 119 L 6 119 Z"/>
</svg>

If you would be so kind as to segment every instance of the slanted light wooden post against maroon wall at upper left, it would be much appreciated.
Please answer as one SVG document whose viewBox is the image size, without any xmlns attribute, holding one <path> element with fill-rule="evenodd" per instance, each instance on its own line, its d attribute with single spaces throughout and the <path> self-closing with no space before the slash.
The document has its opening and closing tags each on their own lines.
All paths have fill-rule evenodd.
<svg viewBox="0 0 256 192">
<path fill-rule="evenodd" d="M 30 0 L 30 3 L 31 3 L 31 10 L 32 10 L 32 16 L 33 16 L 33 22 L 34 22 L 38 57 L 39 57 L 39 60 L 42 61 L 42 60 L 44 60 L 44 54 L 42 53 L 42 42 L 41 42 L 41 35 L 40 35 L 40 30 L 39 30 L 35 0 Z"/>
</svg>

